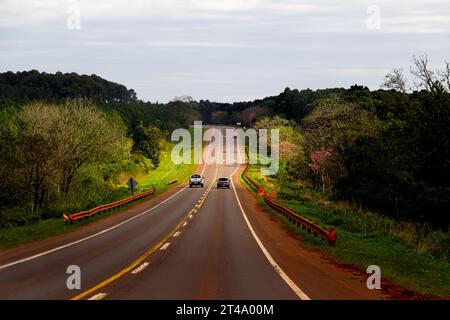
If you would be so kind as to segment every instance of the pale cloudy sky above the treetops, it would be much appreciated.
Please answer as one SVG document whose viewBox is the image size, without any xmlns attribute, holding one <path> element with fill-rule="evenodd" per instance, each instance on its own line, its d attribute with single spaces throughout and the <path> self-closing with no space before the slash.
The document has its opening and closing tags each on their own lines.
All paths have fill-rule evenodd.
<svg viewBox="0 0 450 320">
<path fill-rule="evenodd" d="M 450 61 L 450 1 L 0 0 L 0 72 L 97 74 L 140 99 L 380 87 Z"/>
</svg>

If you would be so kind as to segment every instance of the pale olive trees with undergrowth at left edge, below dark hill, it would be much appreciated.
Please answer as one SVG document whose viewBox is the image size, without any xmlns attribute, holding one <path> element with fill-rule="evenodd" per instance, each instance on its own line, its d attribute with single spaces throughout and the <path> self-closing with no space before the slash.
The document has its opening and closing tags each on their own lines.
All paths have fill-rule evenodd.
<svg viewBox="0 0 450 320">
<path fill-rule="evenodd" d="M 94 193 L 93 185 L 111 191 L 107 177 L 94 181 L 89 170 L 102 172 L 129 153 L 120 117 L 84 100 L 33 102 L 7 111 L 0 111 L 0 225 L 27 223 L 52 211 L 59 216 L 59 204 L 67 209 L 71 197 Z M 24 210 L 20 219 L 4 211 L 15 207 Z"/>
</svg>

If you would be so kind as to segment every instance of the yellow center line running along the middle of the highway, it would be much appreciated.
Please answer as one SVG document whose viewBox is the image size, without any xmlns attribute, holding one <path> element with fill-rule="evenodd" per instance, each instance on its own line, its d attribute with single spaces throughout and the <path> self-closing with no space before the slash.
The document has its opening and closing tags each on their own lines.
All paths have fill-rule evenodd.
<svg viewBox="0 0 450 320">
<path fill-rule="evenodd" d="M 142 261 L 144 261 L 146 258 L 148 258 L 152 253 L 154 253 L 155 251 L 157 251 L 159 248 L 161 248 L 163 246 L 163 244 L 169 240 L 171 237 L 173 237 L 173 235 L 179 230 L 181 229 L 181 227 L 183 226 L 183 224 L 185 222 L 187 222 L 187 220 L 189 219 L 189 216 L 191 214 L 193 214 L 194 212 L 197 212 L 198 209 L 200 209 L 200 207 L 203 205 L 203 203 L 205 202 L 209 192 L 212 189 L 212 186 L 214 184 L 214 181 L 217 178 L 217 173 L 219 171 L 219 166 L 216 165 L 216 171 L 214 173 L 214 178 L 213 181 L 211 182 L 211 184 L 209 185 L 208 189 L 206 190 L 206 194 L 205 197 L 201 200 L 201 202 L 198 204 L 197 210 L 195 210 L 195 208 L 192 208 L 188 214 L 180 221 L 180 223 L 178 223 L 175 228 L 170 231 L 170 233 L 165 236 L 161 241 L 159 241 L 155 246 L 153 246 L 152 248 L 150 248 L 147 252 L 145 252 L 142 256 L 140 256 L 138 259 L 136 259 L 134 262 L 132 262 L 129 266 L 125 267 L 124 269 L 122 269 L 121 271 L 119 271 L 118 273 L 116 273 L 115 275 L 109 277 L 108 279 L 100 282 L 99 284 L 97 284 L 96 286 L 80 293 L 79 295 L 71 298 L 70 300 L 80 300 L 83 299 L 84 297 L 86 297 L 89 294 L 92 294 L 94 292 L 96 292 L 97 290 L 111 284 L 112 282 L 114 282 L 115 280 L 119 279 L 120 277 L 122 277 L 123 275 L 125 275 L 126 273 L 128 273 L 130 270 L 133 270 L 136 266 L 138 266 Z"/>
</svg>

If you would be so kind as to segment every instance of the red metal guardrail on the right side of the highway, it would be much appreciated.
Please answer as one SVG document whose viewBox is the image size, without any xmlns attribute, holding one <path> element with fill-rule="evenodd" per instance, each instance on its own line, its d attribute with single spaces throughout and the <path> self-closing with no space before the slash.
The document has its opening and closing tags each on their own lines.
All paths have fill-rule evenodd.
<svg viewBox="0 0 450 320">
<path fill-rule="evenodd" d="M 307 219 L 307 218 L 295 213 L 294 211 L 290 210 L 289 208 L 273 201 L 267 195 L 264 188 L 247 175 L 249 169 L 250 169 L 250 164 L 247 163 L 245 170 L 242 173 L 242 177 L 253 188 L 255 188 L 256 191 L 258 191 L 258 194 L 263 197 L 264 202 L 267 205 L 269 205 L 272 209 L 276 210 L 277 212 L 279 212 L 282 215 L 284 215 L 285 217 L 287 217 L 289 219 L 289 221 L 294 223 L 295 225 L 297 225 L 299 227 L 303 227 L 308 232 L 311 232 L 316 236 L 320 236 L 323 240 L 328 241 L 328 243 L 332 246 L 336 245 L 337 234 L 336 234 L 335 228 L 331 227 L 330 229 L 326 229 L 324 227 L 321 227 L 313 220 Z"/>
</svg>

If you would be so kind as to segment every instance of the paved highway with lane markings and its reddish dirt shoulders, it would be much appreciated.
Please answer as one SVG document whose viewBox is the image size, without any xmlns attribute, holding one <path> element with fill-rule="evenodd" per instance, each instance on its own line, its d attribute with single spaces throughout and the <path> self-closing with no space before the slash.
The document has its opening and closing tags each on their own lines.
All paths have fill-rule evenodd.
<svg viewBox="0 0 450 320">
<path fill-rule="evenodd" d="M 184 184 L 80 230 L 0 252 L 0 299 L 387 298 L 302 248 L 240 184 L 242 170 L 222 160 L 202 165 L 203 188 Z M 220 176 L 232 177 L 230 189 L 215 187 Z M 81 289 L 67 288 L 70 265 L 81 269 Z"/>
</svg>

